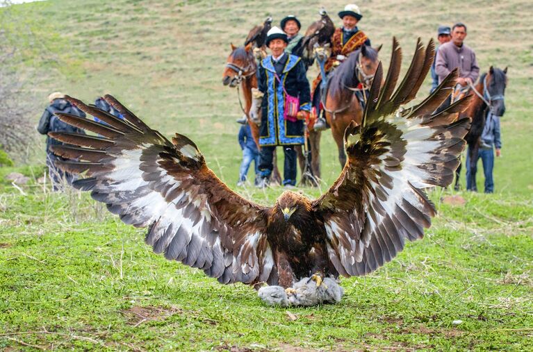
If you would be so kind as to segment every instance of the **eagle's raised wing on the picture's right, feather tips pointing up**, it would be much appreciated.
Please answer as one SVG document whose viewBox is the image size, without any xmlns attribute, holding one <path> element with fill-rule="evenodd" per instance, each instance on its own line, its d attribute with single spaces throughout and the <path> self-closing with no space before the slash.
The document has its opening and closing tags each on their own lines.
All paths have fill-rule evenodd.
<svg viewBox="0 0 533 352">
<path fill-rule="evenodd" d="M 469 99 L 434 110 L 448 97 L 457 70 L 417 106 L 403 110 L 425 78 L 434 45 L 420 43 L 411 67 L 394 91 L 401 51 L 396 40 L 386 81 L 382 65 L 375 74 L 360 126 L 345 131 L 348 160 L 334 185 L 313 203 L 327 232 L 328 256 L 339 274 L 359 276 L 384 265 L 417 240 L 436 214 L 423 188 L 453 181 L 464 148 L 468 118 L 456 121 Z"/>
</svg>

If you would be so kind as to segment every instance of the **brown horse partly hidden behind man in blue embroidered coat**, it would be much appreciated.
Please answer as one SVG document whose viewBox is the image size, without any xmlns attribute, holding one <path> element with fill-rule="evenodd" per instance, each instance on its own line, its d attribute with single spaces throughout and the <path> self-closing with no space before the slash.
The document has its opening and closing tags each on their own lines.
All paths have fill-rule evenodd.
<svg viewBox="0 0 533 352">
<path fill-rule="evenodd" d="M 254 51 L 252 49 L 252 42 L 247 44 L 245 47 L 235 47 L 231 44 L 231 53 L 229 54 L 224 67 L 224 72 L 222 72 L 222 84 L 229 87 L 240 87 L 243 90 L 243 97 L 245 100 L 245 105 L 240 102 L 240 92 L 237 92 L 238 99 L 240 103 L 240 108 L 243 110 L 247 117 L 247 122 L 252 130 L 252 136 L 257 146 L 259 146 L 259 126 L 254 123 L 253 119 L 250 118 L 249 112 L 252 108 L 252 88 L 257 89 L 257 63 L 254 56 Z M 259 109 L 261 111 L 261 109 Z M 259 119 L 261 121 L 261 119 Z M 302 146 L 295 146 L 296 155 L 298 158 L 298 163 L 300 165 L 300 171 L 304 174 L 305 171 L 305 156 L 302 151 Z M 272 170 L 272 176 L 270 179 L 272 183 L 281 184 L 281 174 L 277 167 L 277 157 L 274 151 L 274 169 Z M 303 179 L 306 183 L 306 179 Z"/>
</svg>

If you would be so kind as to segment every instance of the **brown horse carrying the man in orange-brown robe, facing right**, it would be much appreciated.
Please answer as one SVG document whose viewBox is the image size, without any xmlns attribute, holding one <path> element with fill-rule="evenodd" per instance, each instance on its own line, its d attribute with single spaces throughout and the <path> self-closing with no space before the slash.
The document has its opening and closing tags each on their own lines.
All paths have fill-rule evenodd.
<svg viewBox="0 0 533 352">
<path fill-rule="evenodd" d="M 322 94 L 322 106 L 337 144 L 341 167 L 346 163 L 344 131 L 351 121 L 361 123 L 367 92 L 379 65 L 379 49 L 363 45 L 350 54 L 329 76 Z"/>
</svg>

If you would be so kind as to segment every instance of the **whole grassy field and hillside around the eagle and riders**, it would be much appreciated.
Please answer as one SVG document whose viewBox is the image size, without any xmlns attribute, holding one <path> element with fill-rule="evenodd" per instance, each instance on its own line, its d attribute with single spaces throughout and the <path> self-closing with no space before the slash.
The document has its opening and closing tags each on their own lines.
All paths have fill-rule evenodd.
<svg viewBox="0 0 533 352">
<path fill-rule="evenodd" d="M 236 90 L 222 86 L 229 42 L 254 24 L 295 13 L 306 27 L 318 1 L 71 0 L 0 9 L 17 47 L 27 99 L 62 90 L 86 101 L 110 92 L 165 135 L 194 140 L 234 187 L 240 149 Z M 331 1 L 332 17 L 345 3 Z M 335 306 L 268 308 L 245 285 L 151 253 L 144 232 L 108 215 L 87 194 L 50 194 L 35 162 L 0 168 L 0 349 L 315 351 L 533 349 L 533 24 L 530 1 L 360 1 L 373 44 L 391 37 L 411 57 L 438 24 L 468 24 L 482 70 L 509 66 L 503 157 L 496 193 L 431 194 L 439 215 L 424 240 L 365 278 L 342 281 Z M 314 71 L 313 71 L 314 70 Z M 311 78 L 313 69 L 309 74 Z M 421 90 L 427 92 L 427 82 Z M 338 176 L 336 147 L 322 138 L 324 190 Z M 4 176 L 31 176 L 21 191 Z M 482 175 L 478 184 L 482 188 Z M 463 181 L 464 184 L 464 181 Z M 303 189 L 308 196 L 321 190 Z M 24 194 L 22 194 L 24 192 Z M 271 204 L 281 193 L 247 188 Z"/>
</svg>

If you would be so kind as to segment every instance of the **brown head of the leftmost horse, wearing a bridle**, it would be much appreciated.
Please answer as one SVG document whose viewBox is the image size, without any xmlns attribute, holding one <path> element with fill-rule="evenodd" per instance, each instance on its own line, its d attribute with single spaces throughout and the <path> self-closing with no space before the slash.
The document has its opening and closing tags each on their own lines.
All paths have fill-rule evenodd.
<svg viewBox="0 0 533 352">
<path fill-rule="evenodd" d="M 235 47 L 231 44 L 231 53 L 228 56 L 226 67 L 222 73 L 222 83 L 236 87 L 243 78 L 256 72 L 256 62 L 252 52 L 252 43 L 246 47 Z"/>
</svg>

